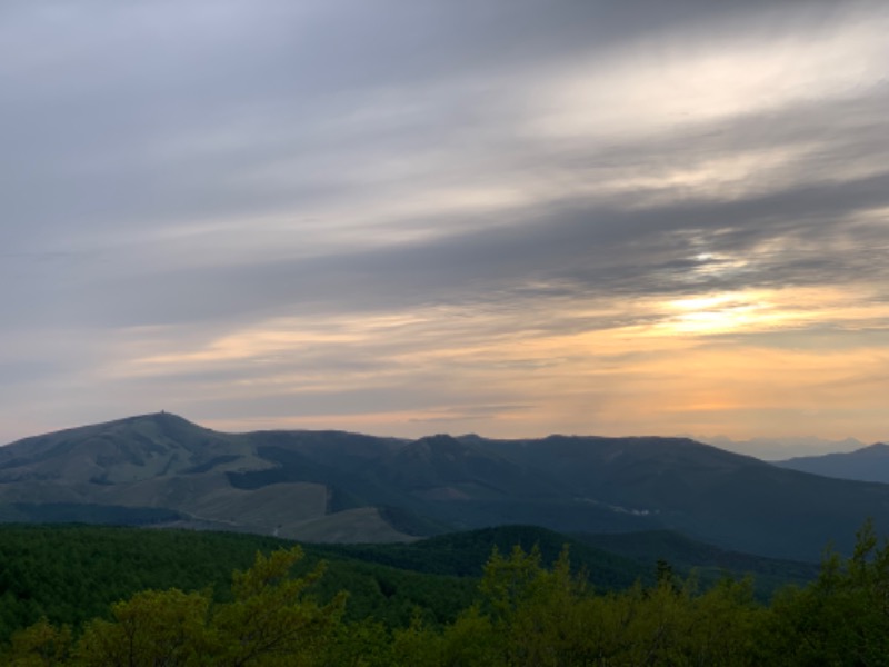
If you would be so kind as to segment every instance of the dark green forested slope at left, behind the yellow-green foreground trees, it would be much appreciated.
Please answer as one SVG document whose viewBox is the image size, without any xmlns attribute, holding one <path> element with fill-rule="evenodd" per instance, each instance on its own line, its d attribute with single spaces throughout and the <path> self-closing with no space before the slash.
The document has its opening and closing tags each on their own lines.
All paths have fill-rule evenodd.
<svg viewBox="0 0 889 667">
<path fill-rule="evenodd" d="M 147 589 L 207 590 L 213 600 L 229 601 L 232 571 L 250 567 L 257 552 L 292 547 L 289 540 L 234 532 L 0 525 L 0 641 L 41 617 L 78 629 Z M 294 576 L 322 559 L 326 576 L 312 594 L 329 601 L 348 590 L 347 620 L 372 616 L 396 627 L 422 609 L 447 621 L 475 596 L 476 578 L 362 561 L 332 546 L 307 546 Z M 430 564 L 434 568 L 434 559 Z"/>
</svg>

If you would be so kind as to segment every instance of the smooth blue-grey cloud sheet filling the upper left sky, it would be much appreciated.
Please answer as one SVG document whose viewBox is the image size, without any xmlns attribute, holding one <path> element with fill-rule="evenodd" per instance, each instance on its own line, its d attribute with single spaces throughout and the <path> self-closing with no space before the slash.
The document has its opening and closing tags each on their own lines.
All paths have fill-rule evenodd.
<svg viewBox="0 0 889 667">
<path fill-rule="evenodd" d="M 331 162 L 367 173 L 382 148 L 448 141 L 473 120 L 470 139 L 483 138 L 521 104 L 517 80 L 738 13 L 692 2 L 66 4 L 10 11 L 6 60 L 21 66 L 6 68 L 3 93 L 8 210 L 62 235 L 338 197 L 343 183 L 312 173 Z M 823 20 L 817 8 L 802 17 Z M 283 187 L 250 178 L 281 160 L 296 170 Z"/>
</svg>

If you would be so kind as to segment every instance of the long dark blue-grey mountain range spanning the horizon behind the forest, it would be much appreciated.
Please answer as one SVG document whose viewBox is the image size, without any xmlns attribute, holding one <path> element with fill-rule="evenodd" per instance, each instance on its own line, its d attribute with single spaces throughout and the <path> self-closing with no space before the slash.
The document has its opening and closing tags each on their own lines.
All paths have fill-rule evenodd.
<svg viewBox="0 0 889 667">
<path fill-rule="evenodd" d="M 410 541 L 498 525 L 675 530 L 723 549 L 848 551 L 889 486 L 829 479 L 685 438 L 416 440 L 343 431 L 223 434 L 167 414 L 0 448 L 0 520 L 82 521 Z"/>
</svg>

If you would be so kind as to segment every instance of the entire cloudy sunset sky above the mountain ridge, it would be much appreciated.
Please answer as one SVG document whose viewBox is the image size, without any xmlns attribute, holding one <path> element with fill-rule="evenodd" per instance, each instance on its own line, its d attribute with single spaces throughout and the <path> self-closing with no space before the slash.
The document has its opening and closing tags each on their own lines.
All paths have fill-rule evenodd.
<svg viewBox="0 0 889 667">
<path fill-rule="evenodd" d="M 889 439 L 889 6 L 0 3 L 0 442 Z"/>
</svg>

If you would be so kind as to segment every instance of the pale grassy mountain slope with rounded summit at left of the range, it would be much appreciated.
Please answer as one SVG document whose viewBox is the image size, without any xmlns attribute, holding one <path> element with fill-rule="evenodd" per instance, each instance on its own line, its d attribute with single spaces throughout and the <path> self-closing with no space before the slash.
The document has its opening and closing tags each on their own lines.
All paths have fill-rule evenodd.
<svg viewBox="0 0 889 667">
<path fill-rule="evenodd" d="M 319 458 L 344 459 L 352 451 L 372 458 L 369 445 L 391 446 L 338 432 L 220 434 L 167 412 L 131 417 L 0 448 L 0 520 L 154 522 L 321 540 L 410 539 L 369 504 L 342 502 L 346 494 L 326 484 L 332 474 L 309 470 L 279 476 L 273 486 L 232 485 L 232 478 L 280 472 L 279 462 L 260 451 L 270 441 L 293 439 Z"/>
</svg>

